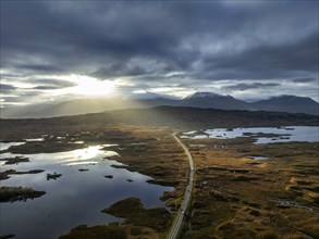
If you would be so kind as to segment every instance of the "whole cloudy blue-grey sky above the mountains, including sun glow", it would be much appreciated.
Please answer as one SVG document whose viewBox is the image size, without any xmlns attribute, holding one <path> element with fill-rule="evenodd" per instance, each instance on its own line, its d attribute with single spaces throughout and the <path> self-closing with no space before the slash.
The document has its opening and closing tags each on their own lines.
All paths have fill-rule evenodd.
<svg viewBox="0 0 319 239">
<path fill-rule="evenodd" d="M 318 4 L 1 0 L 1 106 L 196 91 L 318 101 Z"/>
</svg>

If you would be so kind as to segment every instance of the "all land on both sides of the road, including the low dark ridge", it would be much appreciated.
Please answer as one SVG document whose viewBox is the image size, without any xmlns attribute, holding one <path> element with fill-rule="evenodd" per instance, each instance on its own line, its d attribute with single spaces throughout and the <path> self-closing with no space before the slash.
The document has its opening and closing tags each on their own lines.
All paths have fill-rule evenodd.
<svg viewBox="0 0 319 239">
<path fill-rule="evenodd" d="M 125 168 L 152 177 L 151 184 L 175 188 L 161 198 L 172 213 L 163 207 L 146 210 L 138 199 L 126 199 L 105 210 L 125 218 L 123 224 L 81 225 L 70 228 L 61 239 L 165 238 L 188 175 L 187 158 L 172 137 L 174 131 L 318 125 L 318 120 L 305 114 L 158 108 L 48 120 L 1 120 L 0 125 L 2 141 L 44 138 L 2 152 L 62 152 L 118 144 L 108 150 L 119 152 L 116 161 L 127 165 Z M 76 141 L 84 143 L 70 143 Z M 183 142 L 195 160 L 196 186 L 182 238 L 319 237 L 318 142 L 254 144 L 250 138 Z M 268 160 L 256 161 L 254 155 Z M 14 177 L 11 173 L 7 176 Z M 130 207 L 134 216 L 122 207 Z"/>
</svg>

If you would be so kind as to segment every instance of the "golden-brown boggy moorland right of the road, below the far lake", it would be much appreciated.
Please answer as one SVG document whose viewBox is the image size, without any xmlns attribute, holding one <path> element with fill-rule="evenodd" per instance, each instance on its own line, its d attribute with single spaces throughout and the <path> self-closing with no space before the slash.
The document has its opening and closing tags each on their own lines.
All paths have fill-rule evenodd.
<svg viewBox="0 0 319 239">
<path fill-rule="evenodd" d="M 318 142 L 183 141 L 197 174 L 182 238 L 319 238 Z"/>
</svg>

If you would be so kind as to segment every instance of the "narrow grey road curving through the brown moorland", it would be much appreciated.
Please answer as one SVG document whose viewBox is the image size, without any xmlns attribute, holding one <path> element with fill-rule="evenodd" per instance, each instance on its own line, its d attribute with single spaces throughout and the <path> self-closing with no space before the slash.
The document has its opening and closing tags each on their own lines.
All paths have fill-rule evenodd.
<svg viewBox="0 0 319 239">
<path fill-rule="evenodd" d="M 194 161 L 193 161 L 193 156 L 189 153 L 188 149 L 185 147 L 185 144 L 181 141 L 181 139 L 179 139 L 176 137 L 176 134 L 173 134 L 174 139 L 179 142 L 179 144 L 183 148 L 183 150 L 185 151 L 185 154 L 188 158 L 189 161 L 189 176 L 188 176 L 188 183 L 184 192 L 184 199 L 182 202 L 182 205 L 176 214 L 176 217 L 173 222 L 173 225 L 171 227 L 170 234 L 168 236 L 168 239 L 175 239 L 179 235 L 179 231 L 182 226 L 182 222 L 184 219 L 185 216 L 185 212 L 187 210 L 187 205 L 191 202 L 191 198 L 192 198 L 192 191 L 193 191 L 193 184 L 194 184 L 194 175 L 195 175 L 195 168 L 194 168 Z"/>
</svg>

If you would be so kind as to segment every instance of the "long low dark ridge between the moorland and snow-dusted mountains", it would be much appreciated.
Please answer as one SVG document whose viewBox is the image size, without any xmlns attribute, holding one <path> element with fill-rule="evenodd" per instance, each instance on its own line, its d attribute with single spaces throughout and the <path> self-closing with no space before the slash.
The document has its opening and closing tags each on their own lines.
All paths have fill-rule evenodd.
<svg viewBox="0 0 319 239">
<path fill-rule="evenodd" d="M 226 111 L 187 106 L 156 106 L 149 109 L 127 109 L 107 111 L 102 113 L 73 115 L 52 118 L 1 120 L 0 127 L 9 135 L 1 134 L 2 140 L 14 140 L 20 137 L 12 131 L 34 127 L 34 134 L 56 134 L 57 128 L 66 130 L 70 126 L 88 127 L 102 125 L 136 125 L 173 128 L 209 128 L 209 127 L 266 127 L 314 125 L 318 126 L 319 116 L 308 114 L 292 114 L 282 112 Z"/>
</svg>

